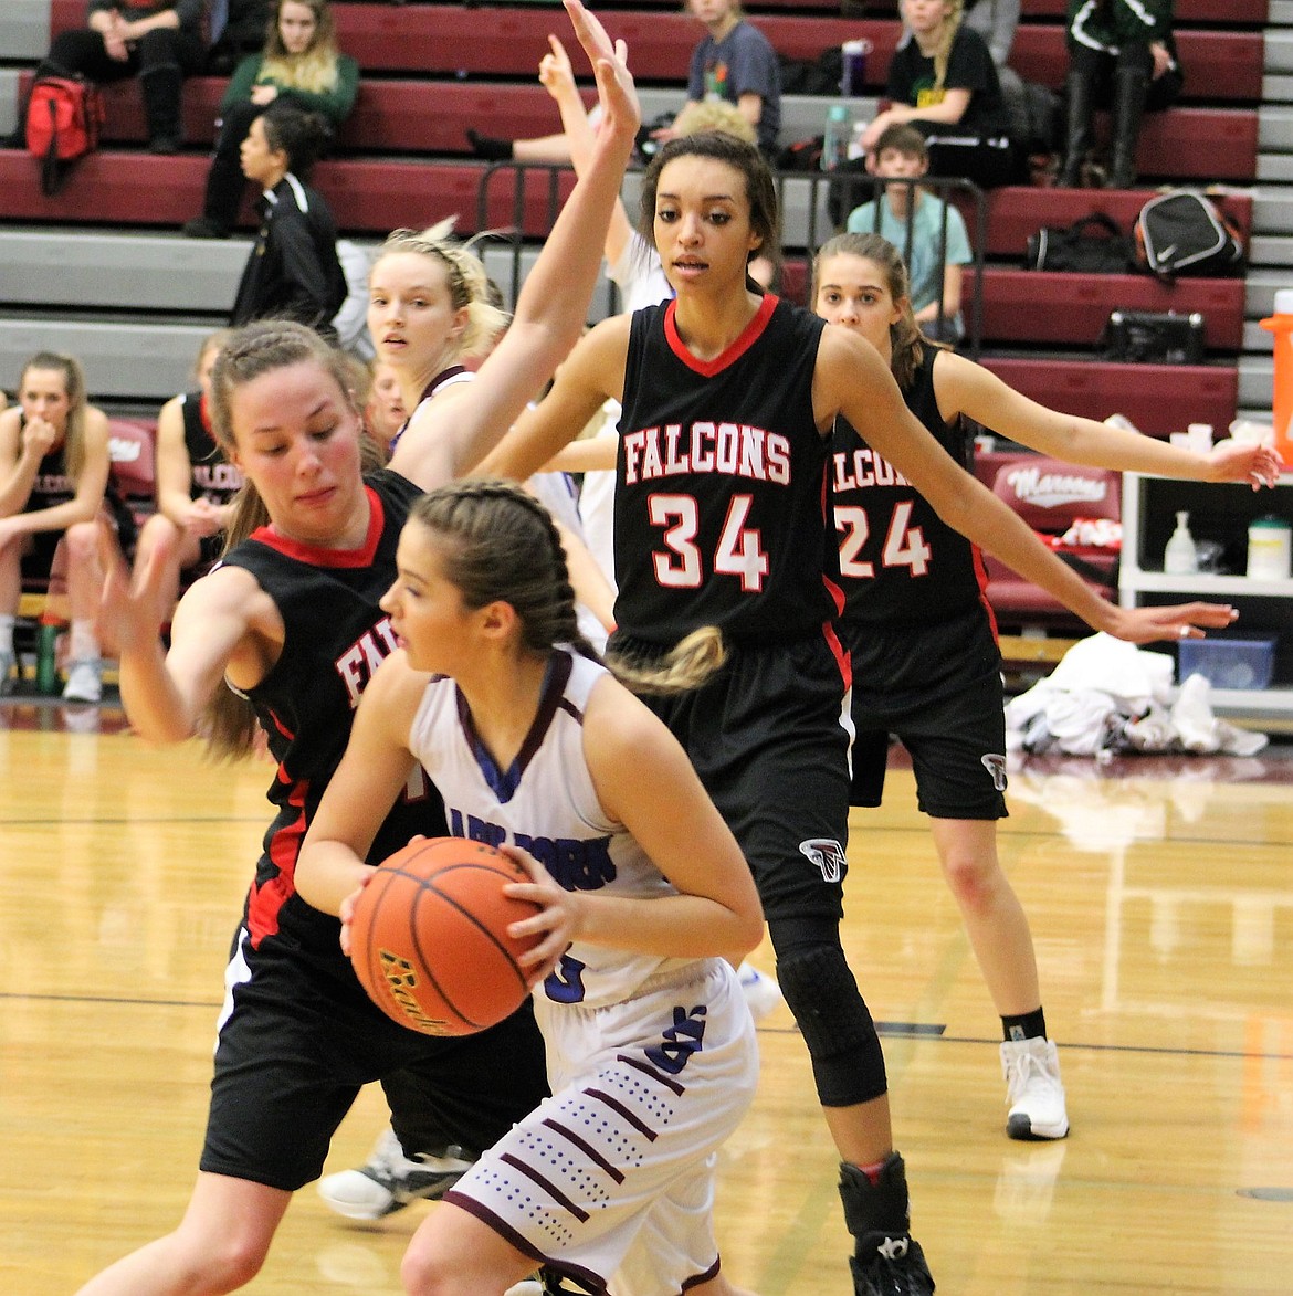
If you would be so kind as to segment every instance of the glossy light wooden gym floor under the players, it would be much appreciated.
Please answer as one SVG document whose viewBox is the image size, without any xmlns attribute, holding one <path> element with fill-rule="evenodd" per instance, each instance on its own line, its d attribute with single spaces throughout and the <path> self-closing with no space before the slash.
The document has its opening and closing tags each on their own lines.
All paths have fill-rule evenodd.
<svg viewBox="0 0 1293 1296">
<path fill-rule="evenodd" d="M 70 724 L 73 731 L 67 731 Z M 75 731 L 79 726 L 80 730 Z M 119 713 L 0 705 L 0 1292 L 73 1292 L 192 1183 L 266 765 L 150 749 Z M 1071 1137 L 1004 1135 L 999 1023 L 910 775 L 855 818 L 846 938 L 883 1023 L 913 1229 L 942 1296 L 1293 1291 L 1293 748 L 1031 761 L 1002 862 L 1038 945 Z M 756 962 L 770 967 L 766 949 Z M 846 1296 L 835 1159 L 785 1008 L 725 1150 L 728 1273 Z M 366 1091 L 329 1170 L 384 1124 Z M 259 1296 L 398 1296 L 416 1204 L 300 1194 Z"/>
</svg>

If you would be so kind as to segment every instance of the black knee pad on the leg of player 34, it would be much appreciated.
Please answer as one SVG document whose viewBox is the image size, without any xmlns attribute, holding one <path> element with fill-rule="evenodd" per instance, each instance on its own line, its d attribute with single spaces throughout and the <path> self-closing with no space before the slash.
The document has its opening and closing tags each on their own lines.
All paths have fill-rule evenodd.
<svg viewBox="0 0 1293 1296">
<path fill-rule="evenodd" d="M 777 962 L 777 981 L 813 1063 L 824 1107 L 882 1096 L 888 1082 L 875 1023 L 838 945 L 798 950 Z"/>
</svg>

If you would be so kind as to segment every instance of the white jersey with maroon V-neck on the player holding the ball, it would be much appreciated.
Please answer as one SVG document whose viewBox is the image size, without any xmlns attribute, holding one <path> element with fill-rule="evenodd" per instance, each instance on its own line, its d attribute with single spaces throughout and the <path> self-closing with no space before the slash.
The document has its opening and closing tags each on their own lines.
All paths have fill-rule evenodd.
<svg viewBox="0 0 1293 1296">
<path fill-rule="evenodd" d="M 409 749 L 445 798 L 453 836 L 521 846 L 567 890 L 672 896 L 673 885 L 602 809 L 589 776 L 584 714 L 603 675 L 604 666 L 554 649 L 538 714 L 507 770 L 480 741 L 458 686 L 437 675 L 414 717 Z M 599 1007 L 629 999 L 656 973 L 694 962 L 575 942 L 534 993 L 554 1003 Z"/>
</svg>

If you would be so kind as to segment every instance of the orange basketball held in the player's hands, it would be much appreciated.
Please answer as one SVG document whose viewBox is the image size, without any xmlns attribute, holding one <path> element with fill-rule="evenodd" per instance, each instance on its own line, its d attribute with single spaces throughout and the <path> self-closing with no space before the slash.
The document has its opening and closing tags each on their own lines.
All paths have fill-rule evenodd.
<svg viewBox="0 0 1293 1296">
<path fill-rule="evenodd" d="M 538 912 L 503 894 L 529 881 L 493 846 L 428 837 L 374 872 L 350 924 L 350 960 L 374 1003 L 428 1036 L 469 1036 L 515 1012 L 529 989 L 507 927 Z"/>
</svg>

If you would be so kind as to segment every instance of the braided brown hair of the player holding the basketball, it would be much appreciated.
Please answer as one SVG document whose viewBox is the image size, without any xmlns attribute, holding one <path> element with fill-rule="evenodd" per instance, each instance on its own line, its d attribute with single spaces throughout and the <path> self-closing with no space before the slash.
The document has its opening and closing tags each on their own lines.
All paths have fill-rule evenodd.
<svg viewBox="0 0 1293 1296">
<path fill-rule="evenodd" d="M 530 652 L 567 643 L 597 657 L 578 627 L 560 533 L 533 495 L 515 482 L 468 478 L 423 495 L 409 517 L 450 542 L 445 575 L 468 608 L 510 604 Z"/>
</svg>

